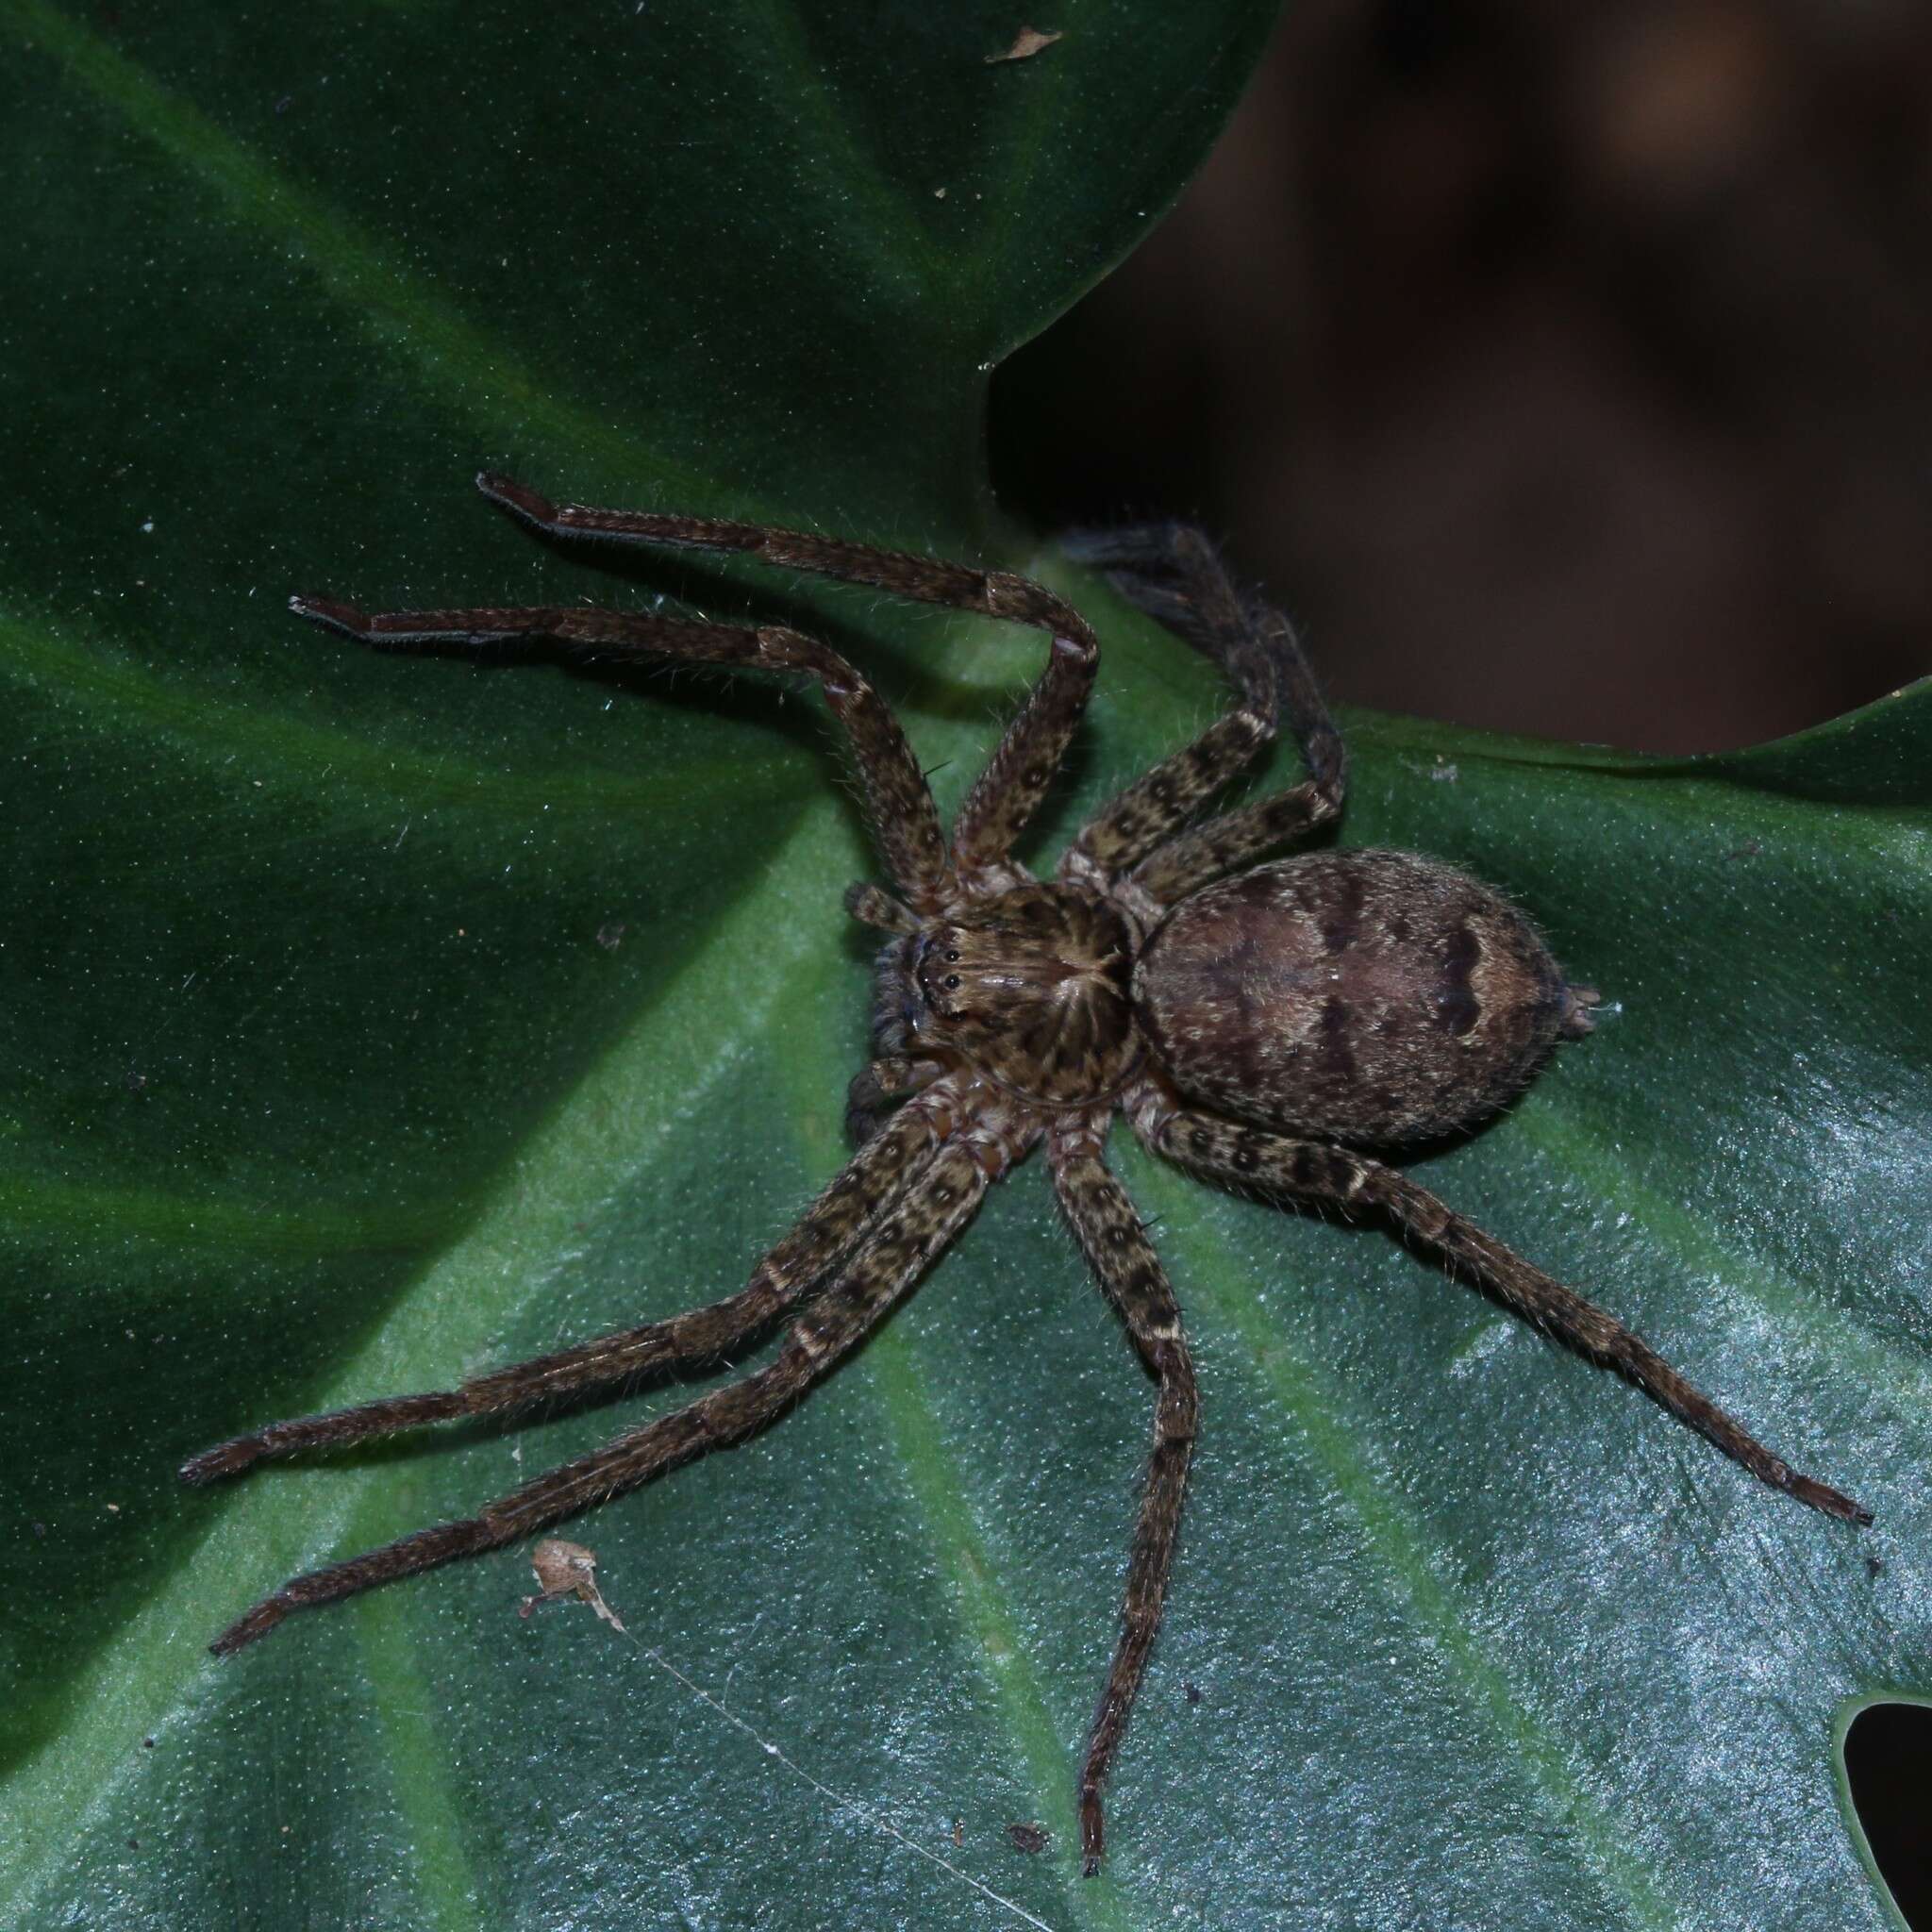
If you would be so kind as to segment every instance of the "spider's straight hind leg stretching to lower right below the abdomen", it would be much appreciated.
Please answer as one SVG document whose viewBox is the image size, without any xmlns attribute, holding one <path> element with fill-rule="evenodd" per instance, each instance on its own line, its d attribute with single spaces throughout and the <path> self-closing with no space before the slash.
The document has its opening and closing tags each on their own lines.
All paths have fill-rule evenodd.
<svg viewBox="0 0 1932 1932">
<path fill-rule="evenodd" d="M 1304 1200 L 1331 1202 L 1343 1211 L 1378 1209 L 1403 1235 L 1445 1256 L 1538 1327 L 1634 1381 L 1660 1408 L 1716 1443 L 1758 1482 L 1843 1522 L 1872 1520 L 1862 1503 L 1812 1476 L 1801 1476 L 1772 1455 L 1735 1416 L 1692 1387 L 1615 1316 L 1532 1267 L 1393 1167 L 1347 1148 L 1291 1140 L 1175 1107 L 1151 1084 L 1132 1095 L 1128 1105 L 1140 1138 L 1182 1167 L 1244 1188 L 1275 1188 Z"/>
</svg>

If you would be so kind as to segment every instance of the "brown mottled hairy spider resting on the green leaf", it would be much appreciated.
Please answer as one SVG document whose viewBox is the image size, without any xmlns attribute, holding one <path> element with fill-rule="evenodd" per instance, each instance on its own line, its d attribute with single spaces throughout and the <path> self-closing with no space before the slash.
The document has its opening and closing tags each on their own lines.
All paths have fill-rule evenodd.
<svg viewBox="0 0 1932 1932">
<path fill-rule="evenodd" d="M 846 895 L 854 918 L 887 933 L 875 966 L 875 1057 L 848 1094 L 858 1151 L 744 1289 L 458 1389 L 272 1422 L 193 1457 L 182 1476 L 209 1482 L 265 1457 L 614 1393 L 728 1362 L 786 1320 L 773 1360 L 475 1517 L 296 1577 L 232 1623 L 216 1654 L 265 1636 L 290 1611 L 535 1536 L 755 1435 L 893 1314 L 985 1190 L 1043 1144 L 1059 1204 L 1157 1389 L 1119 1638 L 1080 1768 L 1080 1847 L 1092 1876 L 1105 1847 L 1101 1795 L 1161 1625 L 1198 1408 L 1175 1293 L 1105 1165 L 1115 1113 L 1155 1153 L 1209 1180 L 1379 1219 L 1619 1370 L 1774 1490 L 1870 1522 L 1849 1495 L 1772 1455 L 1621 1321 L 1366 1151 L 1414 1146 L 1497 1113 L 1559 1041 L 1590 1032 L 1598 995 L 1565 981 L 1509 900 L 1437 860 L 1325 848 L 1256 864 L 1341 813 L 1345 750 L 1289 622 L 1238 591 L 1198 531 L 1163 524 L 1068 541 L 1076 558 L 1215 661 L 1235 703 L 1101 806 L 1041 881 L 1014 860 L 1014 840 L 1055 777 L 1099 665 L 1092 626 L 1065 599 L 1028 578 L 831 537 L 558 508 L 491 473 L 477 487 L 556 539 L 742 551 L 1032 624 L 1051 638 L 1047 668 L 949 835 L 883 699 L 846 659 L 796 630 L 591 609 L 365 614 L 321 597 L 290 601 L 299 616 L 379 649 L 553 639 L 599 657 L 813 678 L 850 738 L 891 891 L 854 885 Z M 1306 779 L 1202 819 L 1213 794 L 1275 738 L 1283 713 Z"/>
</svg>

